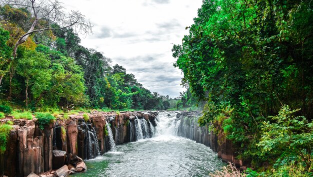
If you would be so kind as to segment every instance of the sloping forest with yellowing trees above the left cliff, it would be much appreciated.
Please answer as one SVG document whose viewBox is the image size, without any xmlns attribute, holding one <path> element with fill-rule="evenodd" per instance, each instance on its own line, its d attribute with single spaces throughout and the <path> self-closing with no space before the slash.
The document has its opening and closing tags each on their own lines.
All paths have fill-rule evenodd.
<svg viewBox="0 0 313 177">
<path fill-rule="evenodd" d="M 175 108 L 177 99 L 151 93 L 133 74 L 126 73 L 124 67 L 112 66 L 110 58 L 80 44 L 77 32 L 88 34 L 92 29 L 88 21 L 82 20 L 83 15 L 75 12 L 71 19 L 55 21 L 48 13 L 46 16 L 39 13 L 45 12 L 48 5 L 62 10 L 57 6 L 59 4 L 49 3 L 41 4 L 35 10 L 27 4 L 0 4 L 2 105 L 42 111 L 72 107 L 104 110 Z M 76 21 L 78 27 L 75 18 L 79 19 Z M 21 36 L 25 37 L 24 42 Z"/>
</svg>

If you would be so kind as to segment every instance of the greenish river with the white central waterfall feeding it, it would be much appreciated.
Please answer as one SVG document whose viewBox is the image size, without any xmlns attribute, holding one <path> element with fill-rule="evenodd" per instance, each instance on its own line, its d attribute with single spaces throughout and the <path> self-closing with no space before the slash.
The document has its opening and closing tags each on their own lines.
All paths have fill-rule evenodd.
<svg viewBox="0 0 313 177">
<path fill-rule="evenodd" d="M 88 170 L 72 177 L 205 177 L 224 166 L 210 148 L 175 136 L 177 125 L 175 113 L 161 112 L 155 137 L 87 160 Z"/>
</svg>

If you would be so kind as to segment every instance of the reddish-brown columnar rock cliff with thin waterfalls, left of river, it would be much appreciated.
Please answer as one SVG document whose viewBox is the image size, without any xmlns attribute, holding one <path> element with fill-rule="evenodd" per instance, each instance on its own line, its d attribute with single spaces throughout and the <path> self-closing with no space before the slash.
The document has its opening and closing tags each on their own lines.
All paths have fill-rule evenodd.
<svg viewBox="0 0 313 177">
<path fill-rule="evenodd" d="M 5 118 L 1 123 L 13 122 L 6 151 L 0 155 L 0 175 L 25 177 L 59 169 L 82 159 L 93 159 L 111 149 L 106 124 L 112 131 L 115 144 L 136 141 L 135 121 L 144 119 L 150 126 L 155 124 L 156 113 L 140 112 L 91 112 L 89 119 L 83 114 L 70 115 L 67 119 L 45 125 L 41 130 L 37 120 Z M 146 131 L 146 136 L 152 136 Z M 73 162 L 77 160 L 77 163 Z M 70 166 L 68 166 L 70 167 Z M 69 168 L 68 168 L 69 169 Z M 58 176 L 54 173 L 54 176 Z"/>
</svg>

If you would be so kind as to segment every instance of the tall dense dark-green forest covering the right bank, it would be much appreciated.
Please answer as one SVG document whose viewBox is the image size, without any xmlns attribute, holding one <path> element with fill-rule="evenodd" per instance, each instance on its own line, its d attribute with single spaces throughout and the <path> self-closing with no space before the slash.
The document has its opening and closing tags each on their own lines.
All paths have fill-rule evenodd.
<svg viewBox="0 0 313 177">
<path fill-rule="evenodd" d="M 255 176 L 313 175 L 313 1 L 203 0 L 182 44 L 200 125 L 232 140 Z"/>
</svg>

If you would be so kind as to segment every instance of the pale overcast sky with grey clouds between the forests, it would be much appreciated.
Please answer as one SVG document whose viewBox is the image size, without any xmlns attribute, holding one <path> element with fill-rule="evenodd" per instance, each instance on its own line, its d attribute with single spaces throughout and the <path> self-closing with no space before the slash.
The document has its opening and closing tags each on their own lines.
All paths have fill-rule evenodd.
<svg viewBox="0 0 313 177">
<path fill-rule="evenodd" d="M 202 0 L 63 0 L 89 18 L 93 34 L 81 44 L 122 65 L 151 92 L 174 98 L 184 89 L 170 51 L 188 33 Z"/>
</svg>

